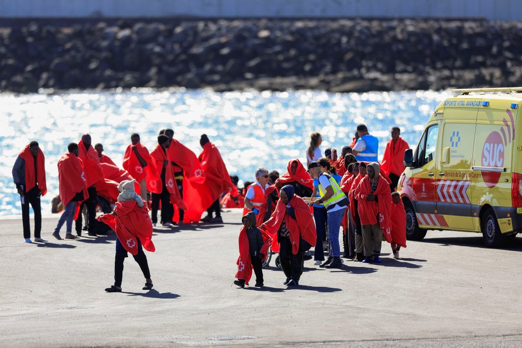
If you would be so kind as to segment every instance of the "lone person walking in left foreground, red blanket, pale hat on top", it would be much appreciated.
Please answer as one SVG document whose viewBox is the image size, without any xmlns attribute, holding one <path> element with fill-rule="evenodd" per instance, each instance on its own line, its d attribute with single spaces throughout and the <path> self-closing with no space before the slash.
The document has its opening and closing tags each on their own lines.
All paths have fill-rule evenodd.
<svg viewBox="0 0 522 348">
<path fill-rule="evenodd" d="M 134 183 L 126 181 L 118 186 L 121 194 L 118 196 L 116 207 L 111 214 L 103 214 L 99 221 L 108 224 L 116 232 L 116 256 L 114 258 L 114 285 L 105 289 L 106 292 L 121 292 L 123 279 L 123 262 L 127 257 L 127 251 L 131 253 L 138 263 L 145 277 L 143 290 L 152 289 L 149 264 L 143 248 L 147 251 L 155 251 L 152 243 L 152 221 L 149 217 L 149 209 L 145 200 L 139 204 L 133 195 L 125 195 L 125 191 L 134 191 Z"/>
</svg>

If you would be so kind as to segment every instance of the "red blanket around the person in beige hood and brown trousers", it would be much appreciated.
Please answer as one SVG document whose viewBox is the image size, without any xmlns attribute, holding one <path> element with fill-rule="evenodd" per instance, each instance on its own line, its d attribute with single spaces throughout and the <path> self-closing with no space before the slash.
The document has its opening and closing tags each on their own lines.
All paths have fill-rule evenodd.
<svg viewBox="0 0 522 348">
<path fill-rule="evenodd" d="M 384 177 L 379 175 L 377 189 L 371 193 L 370 178 L 365 176 L 355 188 L 355 199 L 358 200 L 359 218 L 361 225 L 374 225 L 377 223 L 377 215 L 379 218 L 379 226 L 383 229 L 383 236 L 386 241 L 392 241 L 390 232 L 390 217 L 392 211 L 392 193 L 388 182 Z M 367 201 L 366 195 L 372 194 L 378 197 L 378 201 Z"/>
</svg>

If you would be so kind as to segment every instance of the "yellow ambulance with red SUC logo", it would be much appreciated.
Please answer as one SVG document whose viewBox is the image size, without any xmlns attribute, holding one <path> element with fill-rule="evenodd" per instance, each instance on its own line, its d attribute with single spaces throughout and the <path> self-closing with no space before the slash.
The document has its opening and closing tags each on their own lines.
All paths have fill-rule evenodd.
<svg viewBox="0 0 522 348">
<path fill-rule="evenodd" d="M 482 232 L 501 246 L 522 232 L 522 87 L 455 89 L 437 106 L 399 192 L 409 239 L 427 230 Z"/>
</svg>

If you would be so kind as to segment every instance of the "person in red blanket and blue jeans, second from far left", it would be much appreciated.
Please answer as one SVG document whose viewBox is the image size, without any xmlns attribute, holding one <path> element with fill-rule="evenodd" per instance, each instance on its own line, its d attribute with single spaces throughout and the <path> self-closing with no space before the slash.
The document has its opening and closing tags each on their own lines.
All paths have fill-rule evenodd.
<svg viewBox="0 0 522 348">
<path fill-rule="evenodd" d="M 77 239 L 73 236 L 73 219 L 78 218 L 81 201 L 89 196 L 84 164 L 78 157 L 78 144 L 69 143 L 67 150 L 68 152 L 64 153 L 58 161 L 58 187 L 65 208 L 53 233 L 53 237 L 58 240 L 62 239 L 60 229 L 64 223 L 66 223 L 65 238 Z"/>
</svg>

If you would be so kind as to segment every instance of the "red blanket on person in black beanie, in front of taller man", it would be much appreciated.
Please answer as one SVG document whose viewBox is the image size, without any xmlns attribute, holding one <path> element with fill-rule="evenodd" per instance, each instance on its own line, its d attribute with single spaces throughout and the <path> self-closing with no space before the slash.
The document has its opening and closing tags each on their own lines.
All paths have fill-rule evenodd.
<svg viewBox="0 0 522 348">
<path fill-rule="evenodd" d="M 167 161 L 167 166 L 165 166 L 165 186 L 167 187 L 167 191 L 169 191 L 170 194 L 170 202 L 176 206 L 179 206 L 181 209 L 186 210 L 187 206 L 181 198 L 180 190 L 177 188 L 176 178 L 174 177 L 174 169 L 169 158 L 169 153 L 163 151 L 163 148 L 159 144 L 156 144 L 156 147 L 154 150 L 152 150 L 150 155 L 156 161 L 156 167 L 158 170 L 157 177 L 159 181 L 153 183 L 153 181 L 150 180 L 149 183 L 149 178 L 147 178 L 147 186 L 153 186 L 156 189 L 155 193 L 161 193 L 163 187 L 163 183 L 161 182 L 161 172 L 163 171 L 163 163 Z"/>
</svg>

